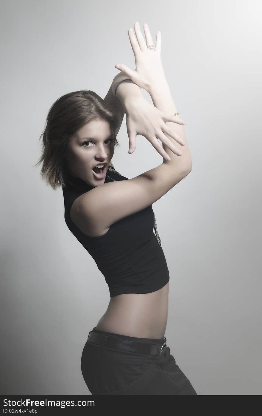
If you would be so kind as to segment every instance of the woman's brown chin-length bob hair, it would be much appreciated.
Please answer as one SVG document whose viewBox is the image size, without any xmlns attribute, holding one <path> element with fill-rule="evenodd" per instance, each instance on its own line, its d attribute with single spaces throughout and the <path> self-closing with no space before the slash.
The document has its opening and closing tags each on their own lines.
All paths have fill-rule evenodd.
<svg viewBox="0 0 262 416">
<path fill-rule="evenodd" d="M 69 92 L 54 102 L 49 109 L 42 137 L 42 154 L 34 166 L 42 163 L 40 176 L 56 190 L 66 186 L 68 170 L 66 154 L 68 143 L 78 129 L 92 120 L 108 120 L 113 129 L 114 144 L 120 128 L 120 119 L 114 108 L 95 92 L 83 89 Z"/>
</svg>

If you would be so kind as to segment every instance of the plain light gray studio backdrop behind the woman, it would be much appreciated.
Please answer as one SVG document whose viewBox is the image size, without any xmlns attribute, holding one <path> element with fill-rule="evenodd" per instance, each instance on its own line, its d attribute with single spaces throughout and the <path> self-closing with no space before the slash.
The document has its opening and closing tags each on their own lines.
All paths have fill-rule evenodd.
<svg viewBox="0 0 262 416">
<path fill-rule="evenodd" d="M 192 171 L 154 203 L 170 271 L 167 343 L 198 395 L 260 395 L 261 12 L 259 1 L 1 2 L 1 394 L 90 394 L 80 359 L 109 302 L 64 222 L 61 188 L 34 168 L 47 112 L 71 91 L 105 97 L 135 69 L 129 27 L 162 32 Z M 150 102 L 147 92 L 143 92 Z M 125 119 L 113 163 L 159 165 Z"/>
</svg>

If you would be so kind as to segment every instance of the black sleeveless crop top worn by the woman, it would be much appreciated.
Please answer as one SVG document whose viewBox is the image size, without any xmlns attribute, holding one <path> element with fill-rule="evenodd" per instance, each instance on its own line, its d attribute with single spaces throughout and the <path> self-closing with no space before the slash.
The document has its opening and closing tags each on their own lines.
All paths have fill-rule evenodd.
<svg viewBox="0 0 262 416">
<path fill-rule="evenodd" d="M 128 178 L 108 169 L 105 183 Z M 80 178 L 68 176 L 64 195 L 66 225 L 93 257 L 108 284 L 110 297 L 124 293 L 151 293 L 169 281 L 169 270 L 154 228 L 152 205 L 121 218 L 108 232 L 97 237 L 88 236 L 76 227 L 70 217 L 73 201 L 94 187 Z"/>
</svg>

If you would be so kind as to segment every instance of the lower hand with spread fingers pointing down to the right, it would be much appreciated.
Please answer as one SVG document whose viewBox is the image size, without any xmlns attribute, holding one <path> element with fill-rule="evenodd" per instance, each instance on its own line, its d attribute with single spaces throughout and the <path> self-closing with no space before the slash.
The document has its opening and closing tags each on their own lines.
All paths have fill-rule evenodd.
<svg viewBox="0 0 262 416">
<path fill-rule="evenodd" d="M 137 135 L 144 136 L 164 159 L 170 160 L 167 152 L 157 139 L 162 141 L 174 154 L 181 156 L 180 151 L 174 146 L 170 139 L 165 136 L 168 134 L 184 146 L 185 142 L 174 131 L 169 129 L 166 122 L 172 121 L 184 126 L 183 120 L 175 120 L 173 116 L 167 116 L 141 95 L 139 97 L 130 97 L 125 101 L 125 121 L 127 125 L 127 134 L 129 137 L 129 152 L 132 153 L 136 148 Z M 132 151 L 130 151 L 130 149 Z"/>
</svg>

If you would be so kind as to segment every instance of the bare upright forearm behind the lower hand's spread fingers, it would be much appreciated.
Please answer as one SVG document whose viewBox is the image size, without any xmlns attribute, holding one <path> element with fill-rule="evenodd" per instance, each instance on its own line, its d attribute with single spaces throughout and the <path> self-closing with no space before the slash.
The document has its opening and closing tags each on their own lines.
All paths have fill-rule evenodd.
<svg viewBox="0 0 262 416">
<path fill-rule="evenodd" d="M 154 86 L 148 89 L 148 92 L 152 98 L 154 106 L 158 110 L 163 111 L 164 114 L 168 115 L 172 115 L 178 112 L 166 81 L 163 80 L 163 82 L 155 83 Z M 179 115 L 174 116 L 174 118 L 180 120 Z M 191 171 L 191 153 L 189 150 L 188 142 L 186 140 L 184 127 L 180 124 L 172 123 L 171 121 L 167 121 L 166 124 L 172 131 L 174 131 L 174 133 L 176 133 L 179 137 L 181 137 L 181 139 L 184 140 L 185 145 L 181 146 L 177 141 L 175 141 L 172 137 L 167 136 L 166 134 L 168 139 L 170 139 L 171 142 L 176 146 L 176 148 L 181 151 L 182 156 L 177 156 L 170 149 L 168 149 L 167 146 L 163 144 L 163 149 L 171 158 L 171 161 L 164 161 L 164 163 L 175 163 L 176 167 L 179 167 L 180 164 L 182 170 L 188 169 L 189 171 Z"/>
</svg>

